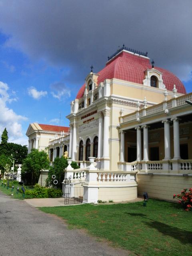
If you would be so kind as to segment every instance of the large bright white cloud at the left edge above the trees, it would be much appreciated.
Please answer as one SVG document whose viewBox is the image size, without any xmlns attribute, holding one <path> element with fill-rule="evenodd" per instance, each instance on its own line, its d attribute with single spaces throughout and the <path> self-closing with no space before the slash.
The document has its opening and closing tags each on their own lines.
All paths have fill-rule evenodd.
<svg viewBox="0 0 192 256">
<path fill-rule="evenodd" d="M 12 100 L 8 94 L 9 87 L 7 84 L 0 82 L 0 133 L 2 134 L 6 127 L 8 131 L 9 141 L 22 137 L 22 120 L 27 120 L 26 117 L 17 115 L 11 108 L 6 106 Z"/>
</svg>

